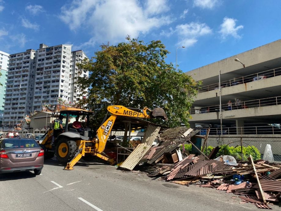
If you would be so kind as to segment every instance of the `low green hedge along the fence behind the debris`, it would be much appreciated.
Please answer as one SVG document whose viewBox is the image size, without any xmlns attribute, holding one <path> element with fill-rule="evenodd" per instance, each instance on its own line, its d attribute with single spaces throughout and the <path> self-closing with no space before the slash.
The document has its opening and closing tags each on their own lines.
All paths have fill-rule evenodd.
<svg viewBox="0 0 281 211">
<path fill-rule="evenodd" d="M 184 144 L 185 150 L 189 151 L 191 153 L 192 145 L 191 144 Z M 180 146 L 180 149 L 182 151 L 182 145 Z M 212 146 L 207 147 L 208 155 L 213 150 Z M 204 154 L 206 154 L 206 148 L 204 149 Z M 236 160 L 242 160 L 241 156 L 241 147 L 237 146 L 228 146 L 228 145 L 221 145 L 220 150 L 218 151 L 216 157 L 219 157 L 220 155 L 231 155 L 235 157 Z M 243 160 L 247 160 L 248 157 L 252 155 L 254 160 L 261 159 L 261 153 L 255 146 L 243 146 Z"/>
</svg>

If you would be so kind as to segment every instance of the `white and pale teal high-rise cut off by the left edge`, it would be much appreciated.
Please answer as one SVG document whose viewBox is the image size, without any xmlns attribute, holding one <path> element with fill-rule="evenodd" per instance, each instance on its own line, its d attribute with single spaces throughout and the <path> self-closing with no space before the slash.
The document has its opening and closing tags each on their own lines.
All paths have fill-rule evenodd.
<svg viewBox="0 0 281 211">
<path fill-rule="evenodd" d="M 9 69 L 9 54 L 0 50 L 0 72 L 2 76 L 0 76 L 0 120 L 3 120 L 3 111 L 4 111 L 4 103 L 5 103 L 5 93 L 6 93 L 6 83 Z"/>
</svg>

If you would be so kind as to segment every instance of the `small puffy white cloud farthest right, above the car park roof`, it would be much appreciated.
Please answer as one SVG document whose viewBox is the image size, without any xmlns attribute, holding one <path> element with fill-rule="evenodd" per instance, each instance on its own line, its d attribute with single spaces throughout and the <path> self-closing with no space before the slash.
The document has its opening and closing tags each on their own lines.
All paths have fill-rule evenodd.
<svg viewBox="0 0 281 211">
<path fill-rule="evenodd" d="M 221 30 L 219 33 L 221 34 L 222 39 L 225 39 L 227 36 L 233 36 L 234 38 L 241 38 L 238 35 L 238 30 L 244 28 L 243 25 L 239 25 L 236 27 L 236 21 L 233 18 L 224 17 L 223 23 L 221 24 Z"/>
</svg>

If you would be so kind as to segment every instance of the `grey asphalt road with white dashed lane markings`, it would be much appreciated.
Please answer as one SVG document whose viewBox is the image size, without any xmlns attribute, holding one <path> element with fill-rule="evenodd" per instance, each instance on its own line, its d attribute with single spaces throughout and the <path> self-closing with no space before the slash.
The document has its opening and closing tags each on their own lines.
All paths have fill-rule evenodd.
<svg viewBox="0 0 281 211">
<path fill-rule="evenodd" d="M 234 194 L 149 178 L 97 162 L 78 162 L 63 170 L 45 161 L 42 174 L 0 175 L 0 210 L 256 210 Z M 270 205 L 281 210 L 277 205 Z"/>
</svg>

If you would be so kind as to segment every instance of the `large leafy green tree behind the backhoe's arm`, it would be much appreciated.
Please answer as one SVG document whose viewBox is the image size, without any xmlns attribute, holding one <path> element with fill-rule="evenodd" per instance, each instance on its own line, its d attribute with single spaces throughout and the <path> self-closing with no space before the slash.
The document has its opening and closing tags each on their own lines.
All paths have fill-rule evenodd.
<svg viewBox="0 0 281 211">
<path fill-rule="evenodd" d="M 88 70 L 89 78 L 78 77 L 80 91 L 87 89 L 82 99 L 88 109 L 112 103 L 126 107 L 165 110 L 167 125 L 188 125 L 188 110 L 197 94 L 198 83 L 172 63 L 165 62 L 169 52 L 160 40 L 144 43 L 126 37 L 127 42 L 115 46 L 101 45 L 94 56 L 78 64 L 79 70 Z M 90 87 L 90 88 L 88 88 Z M 97 125 L 106 113 L 97 112 Z"/>
</svg>

